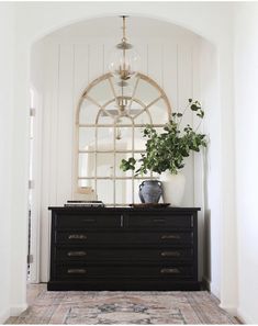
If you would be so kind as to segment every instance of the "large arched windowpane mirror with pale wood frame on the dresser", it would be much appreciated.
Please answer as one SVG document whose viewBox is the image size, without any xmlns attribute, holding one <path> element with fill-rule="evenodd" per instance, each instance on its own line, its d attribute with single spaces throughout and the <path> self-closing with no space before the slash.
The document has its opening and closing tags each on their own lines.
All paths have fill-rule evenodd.
<svg viewBox="0 0 258 326">
<path fill-rule="evenodd" d="M 171 108 L 164 90 L 149 77 L 137 74 L 119 83 L 105 74 L 83 91 L 76 115 L 76 188 L 94 193 L 105 205 L 137 203 L 143 179 L 123 172 L 123 158 L 141 157 L 145 150 L 142 131 L 146 124 L 157 128 L 168 122 Z"/>
</svg>

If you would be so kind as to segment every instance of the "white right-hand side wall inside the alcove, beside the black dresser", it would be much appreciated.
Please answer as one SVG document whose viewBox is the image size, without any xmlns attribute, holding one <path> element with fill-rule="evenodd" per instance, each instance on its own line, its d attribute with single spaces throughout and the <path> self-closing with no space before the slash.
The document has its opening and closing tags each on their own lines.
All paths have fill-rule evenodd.
<svg viewBox="0 0 258 326">
<path fill-rule="evenodd" d="M 203 132 L 209 135 L 209 146 L 204 150 L 204 278 L 211 291 L 221 297 L 221 123 L 218 106 L 218 76 L 216 49 L 205 42 L 201 43 L 200 88 L 205 120 Z"/>
</svg>

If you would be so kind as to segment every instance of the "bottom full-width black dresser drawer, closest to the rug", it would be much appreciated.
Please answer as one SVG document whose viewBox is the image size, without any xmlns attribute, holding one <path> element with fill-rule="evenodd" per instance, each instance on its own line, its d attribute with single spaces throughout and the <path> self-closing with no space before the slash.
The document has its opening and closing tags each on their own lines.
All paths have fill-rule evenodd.
<svg viewBox="0 0 258 326">
<path fill-rule="evenodd" d="M 192 278 L 191 265 L 159 265 L 159 266 L 86 266 L 86 265 L 60 265 L 57 266 L 57 277 L 70 279 L 87 278 L 116 278 L 116 277 L 157 277 L 157 278 Z"/>
</svg>

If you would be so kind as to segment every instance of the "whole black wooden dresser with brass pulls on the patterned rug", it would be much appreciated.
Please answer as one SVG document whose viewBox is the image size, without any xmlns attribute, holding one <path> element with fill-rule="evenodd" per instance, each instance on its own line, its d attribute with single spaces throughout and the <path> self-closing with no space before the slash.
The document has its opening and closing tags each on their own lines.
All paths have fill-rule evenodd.
<svg viewBox="0 0 258 326">
<path fill-rule="evenodd" d="M 48 290 L 199 290 L 199 209 L 49 210 Z"/>
</svg>

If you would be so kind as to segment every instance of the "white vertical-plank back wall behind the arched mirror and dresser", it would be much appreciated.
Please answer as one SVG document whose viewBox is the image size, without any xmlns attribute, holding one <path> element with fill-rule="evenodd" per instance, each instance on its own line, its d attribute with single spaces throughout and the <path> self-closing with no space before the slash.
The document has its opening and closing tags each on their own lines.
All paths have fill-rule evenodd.
<svg viewBox="0 0 258 326">
<path fill-rule="evenodd" d="M 130 41 L 141 55 L 139 71 L 164 88 L 172 111 L 183 111 L 189 98 L 200 99 L 199 47 L 200 37 L 184 29 L 165 22 L 130 18 Z M 41 280 L 48 280 L 49 205 L 63 205 L 74 198 L 75 113 L 85 88 L 97 77 L 108 72 L 110 52 L 121 40 L 121 19 L 102 18 L 65 27 L 38 42 L 33 53 L 45 58 L 43 77 L 43 151 L 41 202 Z M 158 36 L 159 35 L 159 36 Z M 38 50 L 38 48 L 41 50 Z M 34 58 L 35 61 L 35 58 Z M 32 66 L 38 70 L 40 66 Z M 38 110 L 37 110 L 38 111 Z M 192 124 L 191 111 L 183 124 Z M 191 156 L 183 169 L 187 177 L 182 205 L 203 207 L 202 168 L 194 175 Z M 35 180 L 35 184 L 40 180 Z M 199 199 L 198 202 L 195 199 Z M 203 213 L 200 213 L 200 245 L 202 245 Z M 200 246 L 201 248 L 201 246 Z M 200 250 L 200 280 L 202 250 Z"/>
</svg>

